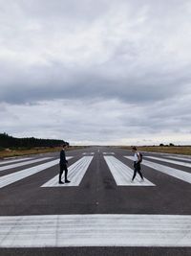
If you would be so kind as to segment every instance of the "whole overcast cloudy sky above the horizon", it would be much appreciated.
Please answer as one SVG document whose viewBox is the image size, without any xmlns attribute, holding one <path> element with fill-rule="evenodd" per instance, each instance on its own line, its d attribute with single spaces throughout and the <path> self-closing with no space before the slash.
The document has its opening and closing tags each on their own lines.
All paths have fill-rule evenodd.
<svg viewBox="0 0 191 256">
<path fill-rule="evenodd" d="M 190 0 L 0 0 L 0 132 L 191 145 Z"/>
</svg>

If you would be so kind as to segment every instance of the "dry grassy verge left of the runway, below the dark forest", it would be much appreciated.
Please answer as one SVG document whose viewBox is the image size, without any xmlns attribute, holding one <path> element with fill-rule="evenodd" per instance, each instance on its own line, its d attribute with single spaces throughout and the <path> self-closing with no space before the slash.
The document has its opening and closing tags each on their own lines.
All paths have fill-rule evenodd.
<svg viewBox="0 0 191 256">
<path fill-rule="evenodd" d="M 80 146 L 71 146 L 67 149 L 67 151 L 74 151 L 78 149 L 83 149 L 85 147 Z M 55 148 L 33 148 L 33 149 L 14 149 L 14 150 L 1 150 L 0 151 L 0 158 L 5 157 L 13 157 L 13 156 L 22 156 L 22 155 L 28 155 L 28 154 L 37 154 L 37 153 L 44 153 L 44 152 L 54 152 L 54 151 L 60 151 L 60 147 Z"/>
</svg>

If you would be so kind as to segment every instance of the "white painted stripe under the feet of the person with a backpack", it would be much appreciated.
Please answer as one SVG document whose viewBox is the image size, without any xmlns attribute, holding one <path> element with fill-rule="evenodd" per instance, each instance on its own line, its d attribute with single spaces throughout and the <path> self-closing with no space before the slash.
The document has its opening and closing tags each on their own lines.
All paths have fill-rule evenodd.
<svg viewBox="0 0 191 256">
<path fill-rule="evenodd" d="M 117 186 L 155 186 L 155 184 L 146 178 L 140 182 L 139 175 L 136 176 L 134 182 L 131 182 L 134 171 L 117 160 L 115 156 L 104 156 L 104 159 L 116 180 Z"/>
</svg>

